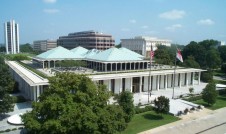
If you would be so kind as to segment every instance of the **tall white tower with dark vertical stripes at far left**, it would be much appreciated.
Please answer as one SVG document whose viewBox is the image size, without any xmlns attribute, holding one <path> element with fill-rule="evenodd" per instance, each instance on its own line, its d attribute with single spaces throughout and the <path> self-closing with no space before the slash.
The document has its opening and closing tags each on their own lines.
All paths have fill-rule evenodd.
<svg viewBox="0 0 226 134">
<path fill-rule="evenodd" d="M 7 54 L 20 52 L 19 25 L 14 20 L 5 23 L 5 46 Z"/>
</svg>

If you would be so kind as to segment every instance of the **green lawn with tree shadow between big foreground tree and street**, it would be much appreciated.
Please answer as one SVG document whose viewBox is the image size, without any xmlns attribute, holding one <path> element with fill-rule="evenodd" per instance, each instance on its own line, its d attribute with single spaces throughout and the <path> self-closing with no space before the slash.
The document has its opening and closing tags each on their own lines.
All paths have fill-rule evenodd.
<svg viewBox="0 0 226 134">
<path fill-rule="evenodd" d="M 177 120 L 179 120 L 179 118 L 172 115 L 163 114 L 163 116 L 161 116 L 154 111 L 136 114 L 122 134 L 136 134 Z"/>
</svg>

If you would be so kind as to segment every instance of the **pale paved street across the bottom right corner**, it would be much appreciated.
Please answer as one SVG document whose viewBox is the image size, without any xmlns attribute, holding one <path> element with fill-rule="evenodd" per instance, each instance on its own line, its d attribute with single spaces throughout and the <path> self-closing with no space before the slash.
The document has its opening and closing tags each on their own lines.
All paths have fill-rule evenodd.
<svg viewBox="0 0 226 134">
<path fill-rule="evenodd" d="M 215 111 L 204 109 L 200 112 L 183 115 L 182 120 L 140 134 L 225 134 L 225 113 L 226 108 Z"/>
</svg>

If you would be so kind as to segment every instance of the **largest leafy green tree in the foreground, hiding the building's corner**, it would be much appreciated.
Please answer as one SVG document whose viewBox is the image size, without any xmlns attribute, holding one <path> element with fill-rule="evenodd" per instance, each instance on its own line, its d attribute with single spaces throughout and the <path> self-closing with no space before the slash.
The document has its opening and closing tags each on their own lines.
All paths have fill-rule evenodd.
<svg viewBox="0 0 226 134">
<path fill-rule="evenodd" d="M 22 116 L 30 133 L 117 133 L 127 126 L 120 106 L 108 105 L 110 92 L 85 75 L 56 74 Z"/>
</svg>

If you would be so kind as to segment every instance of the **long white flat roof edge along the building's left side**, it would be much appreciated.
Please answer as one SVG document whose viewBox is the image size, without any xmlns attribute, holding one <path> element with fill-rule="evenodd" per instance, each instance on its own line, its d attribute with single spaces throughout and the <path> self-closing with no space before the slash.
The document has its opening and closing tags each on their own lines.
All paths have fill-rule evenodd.
<svg viewBox="0 0 226 134">
<path fill-rule="evenodd" d="M 31 70 L 23 67 L 16 61 L 7 61 L 6 62 L 11 69 L 13 69 L 17 74 L 23 78 L 30 86 L 37 86 L 37 85 L 48 85 L 48 79 L 42 78 L 41 76 L 37 75 L 36 73 L 32 72 Z"/>
</svg>

